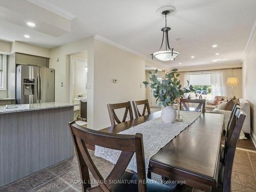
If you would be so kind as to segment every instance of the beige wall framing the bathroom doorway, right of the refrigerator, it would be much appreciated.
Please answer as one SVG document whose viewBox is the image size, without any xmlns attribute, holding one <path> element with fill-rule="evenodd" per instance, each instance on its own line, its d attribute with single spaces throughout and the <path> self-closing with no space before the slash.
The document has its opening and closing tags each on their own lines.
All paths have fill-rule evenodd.
<svg viewBox="0 0 256 192">
<path fill-rule="evenodd" d="M 91 89 L 87 91 L 88 97 L 88 126 L 93 128 L 93 74 L 94 74 L 94 38 L 84 38 L 69 44 L 56 47 L 51 50 L 50 68 L 55 69 L 55 101 L 70 102 L 70 55 L 88 52 L 88 83 L 91 84 Z M 57 58 L 59 61 L 57 62 Z M 63 87 L 61 87 L 63 82 Z"/>
</svg>

